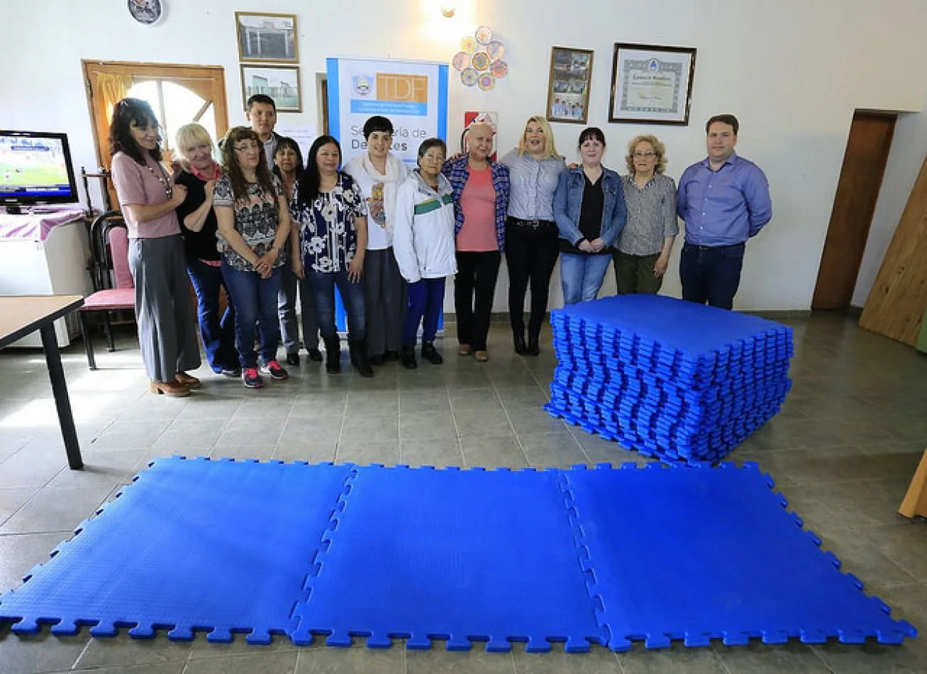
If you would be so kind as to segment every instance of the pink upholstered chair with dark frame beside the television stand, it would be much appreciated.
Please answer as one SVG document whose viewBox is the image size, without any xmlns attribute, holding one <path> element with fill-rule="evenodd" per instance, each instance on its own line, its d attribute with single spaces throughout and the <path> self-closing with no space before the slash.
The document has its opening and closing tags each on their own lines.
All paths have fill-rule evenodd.
<svg viewBox="0 0 927 674">
<path fill-rule="evenodd" d="M 90 313 L 103 312 L 108 348 L 114 351 L 116 346 L 109 324 L 109 312 L 135 311 L 135 286 L 129 270 L 129 233 L 119 210 L 108 210 L 90 225 L 90 246 L 95 293 L 83 300 L 78 315 L 81 318 L 83 346 L 87 350 L 87 365 L 95 370 L 94 344 L 90 338 L 88 320 Z M 113 280 L 116 287 L 112 287 Z"/>
</svg>

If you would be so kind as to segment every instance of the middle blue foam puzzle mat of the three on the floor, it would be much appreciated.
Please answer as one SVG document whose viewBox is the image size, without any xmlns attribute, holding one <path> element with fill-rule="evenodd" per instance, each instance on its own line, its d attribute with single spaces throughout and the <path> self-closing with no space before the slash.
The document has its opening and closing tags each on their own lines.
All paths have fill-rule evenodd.
<svg viewBox="0 0 927 674">
<path fill-rule="evenodd" d="M 579 572 L 562 474 L 406 467 L 357 469 L 337 528 L 328 532 L 296 643 L 329 634 L 409 648 L 487 642 L 528 651 L 604 642 Z M 591 576 L 591 574 L 590 574 Z"/>
</svg>

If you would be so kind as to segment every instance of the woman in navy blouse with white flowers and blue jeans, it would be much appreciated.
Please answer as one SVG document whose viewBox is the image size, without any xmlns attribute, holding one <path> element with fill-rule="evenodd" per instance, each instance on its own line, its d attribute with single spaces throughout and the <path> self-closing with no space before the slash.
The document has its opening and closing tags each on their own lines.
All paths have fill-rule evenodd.
<svg viewBox="0 0 927 674">
<path fill-rule="evenodd" d="M 290 210 L 296 227 L 293 271 L 314 293 L 319 331 L 325 342 L 325 370 L 341 372 L 341 345 L 335 325 L 335 286 L 348 311 L 350 362 L 362 376 L 373 376 L 367 359 L 364 290 L 367 207 L 360 186 L 338 171 L 341 146 L 330 135 L 315 139 L 306 170 L 293 189 Z"/>
</svg>

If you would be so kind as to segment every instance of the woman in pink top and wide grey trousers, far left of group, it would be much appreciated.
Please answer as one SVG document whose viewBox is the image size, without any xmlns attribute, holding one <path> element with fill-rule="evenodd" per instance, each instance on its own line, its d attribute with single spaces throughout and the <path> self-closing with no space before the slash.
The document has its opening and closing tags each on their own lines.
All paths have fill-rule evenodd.
<svg viewBox="0 0 927 674">
<path fill-rule="evenodd" d="M 109 125 L 112 179 L 129 230 L 135 320 L 152 393 L 184 397 L 199 379 L 196 317 L 190 303 L 184 241 L 174 212 L 187 190 L 161 164 L 158 120 L 145 101 L 123 98 Z"/>
</svg>

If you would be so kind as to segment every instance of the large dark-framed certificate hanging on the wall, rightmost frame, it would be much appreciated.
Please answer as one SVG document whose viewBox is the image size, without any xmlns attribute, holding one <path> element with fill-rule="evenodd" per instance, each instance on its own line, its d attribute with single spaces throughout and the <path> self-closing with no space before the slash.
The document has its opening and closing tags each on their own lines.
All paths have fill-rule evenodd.
<svg viewBox="0 0 927 674">
<path fill-rule="evenodd" d="M 689 123 L 695 47 L 616 43 L 608 121 Z"/>
</svg>

